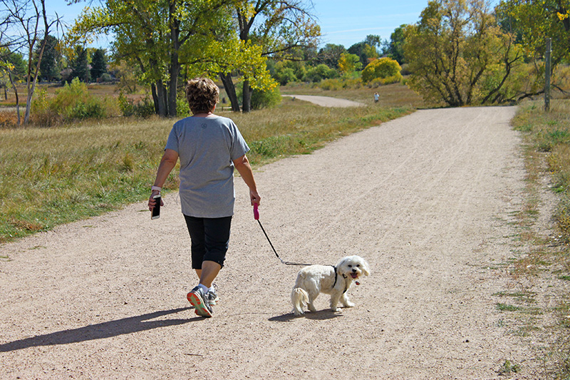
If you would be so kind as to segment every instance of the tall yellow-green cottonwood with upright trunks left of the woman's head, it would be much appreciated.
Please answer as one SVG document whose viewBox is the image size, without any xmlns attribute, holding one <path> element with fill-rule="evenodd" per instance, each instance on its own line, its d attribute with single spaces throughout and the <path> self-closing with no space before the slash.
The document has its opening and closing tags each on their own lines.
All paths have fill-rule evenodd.
<svg viewBox="0 0 570 380">
<path fill-rule="evenodd" d="M 140 80 L 150 85 L 157 114 L 175 116 L 182 66 L 210 64 L 231 71 L 237 67 L 227 56 L 256 51 L 232 35 L 234 4 L 235 0 L 107 0 L 105 6 L 82 14 L 68 38 L 77 41 L 112 32 L 115 59 L 138 66 Z M 217 55 L 204 56 L 206 51 Z M 251 61 L 259 63 L 256 57 Z"/>
</svg>

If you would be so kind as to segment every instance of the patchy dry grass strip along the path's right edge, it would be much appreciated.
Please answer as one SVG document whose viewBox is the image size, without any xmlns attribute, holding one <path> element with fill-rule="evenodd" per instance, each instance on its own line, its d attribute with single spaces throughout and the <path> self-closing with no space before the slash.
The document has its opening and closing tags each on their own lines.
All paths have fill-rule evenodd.
<svg viewBox="0 0 570 380">
<path fill-rule="evenodd" d="M 519 106 L 519 112 L 512 121 L 514 128 L 524 136 L 524 161 L 527 172 L 526 202 L 519 211 L 519 240 L 532 246 L 528 255 L 513 262 L 512 276 L 534 279 L 552 276 L 559 281 L 570 281 L 570 101 L 556 100 L 551 111 L 545 112 L 542 101 L 529 101 Z M 544 188 L 544 177 L 549 175 L 549 187 L 556 195 L 553 235 L 533 228 L 539 215 L 540 192 Z M 535 292 L 520 284 L 523 292 L 532 294 L 531 302 L 522 302 L 527 309 L 518 311 L 520 320 L 527 320 L 527 327 L 521 332 L 537 329 L 528 305 L 534 302 Z M 537 309 L 540 314 L 554 314 L 557 323 L 545 327 L 541 333 L 554 337 L 550 358 L 555 369 L 551 379 L 570 379 L 570 296 L 566 292 L 556 294 L 556 302 L 549 309 Z M 536 308 L 535 308 L 536 309 Z"/>
</svg>

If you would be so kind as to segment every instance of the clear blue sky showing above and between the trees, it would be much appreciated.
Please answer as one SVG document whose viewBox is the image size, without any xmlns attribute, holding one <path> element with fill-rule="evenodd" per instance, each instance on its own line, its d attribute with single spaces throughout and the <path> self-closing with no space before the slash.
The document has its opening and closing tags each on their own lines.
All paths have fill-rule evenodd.
<svg viewBox="0 0 570 380">
<path fill-rule="evenodd" d="M 97 1 L 94 1 L 95 3 Z M 497 0 L 492 0 L 496 4 Z M 374 34 L 390 39 L 390 34 L 402 24 L 414 24 L 427 6 L 427 0 L 313 0 L 314 14 L 323 34 L 322 45 L 335 43 L 349 48 Z M 71 24 L 86 3 L 66 5 L 66 0 L 46 0 L 48 12 L 56 11 Z M 101 40 L 94 47 L 106 48 Z"/>
</svg>

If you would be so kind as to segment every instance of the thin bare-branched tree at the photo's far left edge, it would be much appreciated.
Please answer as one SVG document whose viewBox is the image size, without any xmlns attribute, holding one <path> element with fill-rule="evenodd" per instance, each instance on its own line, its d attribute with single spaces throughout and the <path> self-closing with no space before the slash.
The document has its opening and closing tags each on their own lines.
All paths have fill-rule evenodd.
<svg viewBox="0 0 570 380">
<path fill-rule="evenodd" d="M 31 100 L 36 90 L 36 83 L 40 73 L 40 64 L 43 58 L 43 51 L 48 42 L 48 35 L 51 27 L 58 22 L 58 19 L 48 21 L 46 14 L 45 0 L 0 0 L 0 48 L 11 48 L 12 51 L 22 50 L 28 57 L 33 57 L 36 43 L 40 48 L 37 54 L 37 61 L 34 64 L 32 59 L 28 59 L 26 69 L 26 112 L 24 113 L 24 124 L 30 118 Z M 9 66 L 3 64 L 3 66 Z M 16 91 L 16 86 L 14 86 Z M 16 91 L 16 113 L 18 113 L 18 123 L 20 123 L 19 97 Z"/>
</svg>

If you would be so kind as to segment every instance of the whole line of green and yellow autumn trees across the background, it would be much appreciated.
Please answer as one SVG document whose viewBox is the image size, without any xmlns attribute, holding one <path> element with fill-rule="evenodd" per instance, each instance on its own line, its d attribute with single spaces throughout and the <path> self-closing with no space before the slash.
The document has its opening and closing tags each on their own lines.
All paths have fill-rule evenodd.
<svg viewBox="0 0 570 380">
<path fill-rule="evenodd" d="M 544 38 L 553 41 L 555 86 L 562 79 L 556 72 L 570 58 L 569 3 L 502 0 L 491 9 L 484 0 L 432 0 L 417 23 L 399 26 L 389 40 L 370 35 L 348 48 L 318 48 L 310 0 L 106 0 L 86 9 L 62 41 L 52 36 L 61 21 L 48 16 L 43 0 L 0 0 L 0 76 L 5 88 L 24 78 L 26 115 L 38 78 L 88 81 L 105 74 L 107 61 L 149 88 L 162 116 L 177 115 L 182 83 L 192 76 L 218 78 L 232 110 L 243 112 L 252 96 L 279 84 L 399 81 L 401 68 L 428 103 L 515 102 L 542 91 Z M 114 36 L 109 56 L 83 47 L 103 34 Z"/>
</svg>

